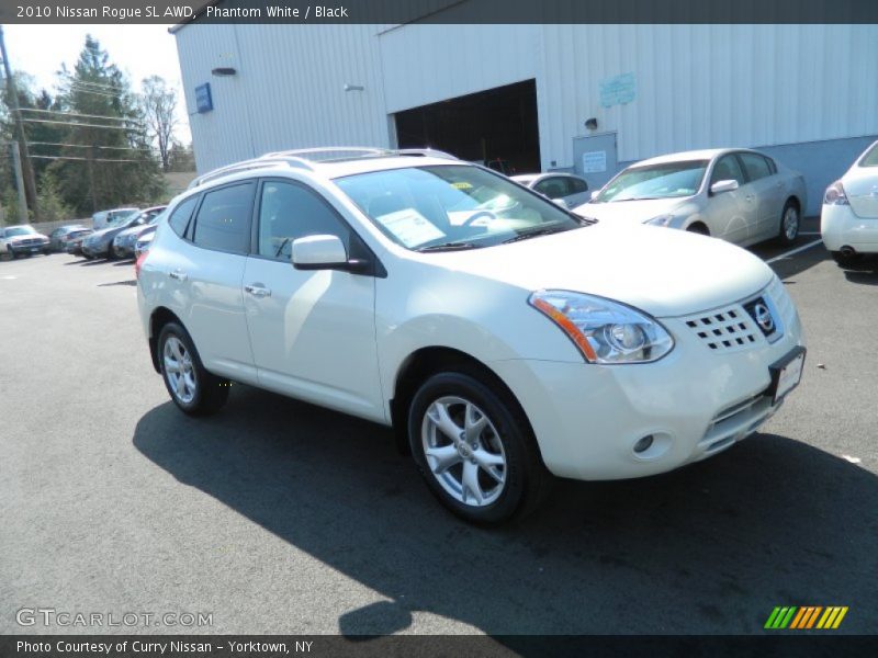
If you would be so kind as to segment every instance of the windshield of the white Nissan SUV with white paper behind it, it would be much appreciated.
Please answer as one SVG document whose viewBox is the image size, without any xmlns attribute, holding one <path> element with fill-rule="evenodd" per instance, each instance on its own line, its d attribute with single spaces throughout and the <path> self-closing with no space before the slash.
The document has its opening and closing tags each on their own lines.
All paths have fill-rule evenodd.
<svg viewBox="0 0 878 658">
<path fill-rule="evenodd" d="M 418 251 L 491 247 L 583 226 L 558 204 L 477 167 L 389 169 L 335 182 L 382 232 Z"/>
</svg>

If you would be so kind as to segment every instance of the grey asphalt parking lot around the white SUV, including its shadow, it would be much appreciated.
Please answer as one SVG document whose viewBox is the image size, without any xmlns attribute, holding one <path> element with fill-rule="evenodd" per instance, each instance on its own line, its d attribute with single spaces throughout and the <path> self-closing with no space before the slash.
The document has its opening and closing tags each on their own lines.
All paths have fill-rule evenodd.
<svg viewBox="0 0 878 658">
<path fill-rule="evenodd" d="M 672 474 L 561 481 L 499 530 L 444 512 L 384 428 L 246 386 L 184 417 L 131 262 L 0 262 L 0 633 L 738 634 L 776 605 L 878 632 L 878 274 L 754 251 L 807 332 L 785 408 Z M 212 625 L 22 627 L 22 608 Z"/>
</svg>

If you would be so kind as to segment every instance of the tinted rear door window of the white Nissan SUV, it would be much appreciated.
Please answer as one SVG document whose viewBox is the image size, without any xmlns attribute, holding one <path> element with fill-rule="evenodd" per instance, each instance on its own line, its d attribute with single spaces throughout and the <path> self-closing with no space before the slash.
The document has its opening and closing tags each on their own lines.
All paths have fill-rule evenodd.
<svg viewBox="0 0 878 658">
<path fill-rule="evenodd" d="M 192 241 L 204 249 L 247 253 L 256 183 L 221 188 L 204 194 Z"/>
</svg>

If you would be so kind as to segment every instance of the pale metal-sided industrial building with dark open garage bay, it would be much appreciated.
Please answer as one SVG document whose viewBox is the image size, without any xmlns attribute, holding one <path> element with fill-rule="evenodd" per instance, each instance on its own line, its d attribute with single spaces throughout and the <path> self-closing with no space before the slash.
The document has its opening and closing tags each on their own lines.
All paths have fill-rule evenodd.
<svg viewBox="0 0 878 658">
<path fill-rule="evenodd" d="M 436 20 L 436 16 L 432 16 Z M 431 146 L 595 189 L 709 147 L 801 171 L 807 214 L 878 136 L 878 25 L 206 24 L 173 30 L 199 171 Z"/>
</svg>

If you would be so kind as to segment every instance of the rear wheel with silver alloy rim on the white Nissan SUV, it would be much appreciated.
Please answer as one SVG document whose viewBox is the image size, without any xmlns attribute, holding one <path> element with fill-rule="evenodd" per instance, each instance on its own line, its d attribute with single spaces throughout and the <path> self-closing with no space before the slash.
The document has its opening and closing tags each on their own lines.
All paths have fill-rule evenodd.
<svg viewBox="0 0 878 658">
<path fill-rule="evenodd" d="M 161 378 L 173 402 L 185 413 L 218 411 L 228 399 L 228 379 L 212 375 L 201 363 L 189 332 L 168 322 L 158 337 Z"/>
</svg>

